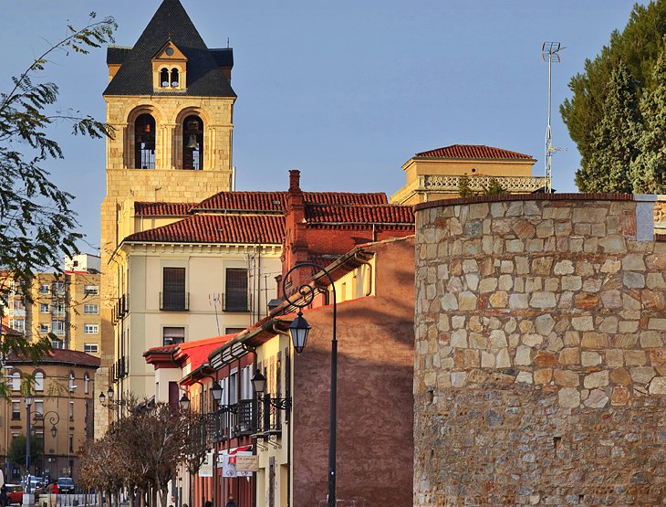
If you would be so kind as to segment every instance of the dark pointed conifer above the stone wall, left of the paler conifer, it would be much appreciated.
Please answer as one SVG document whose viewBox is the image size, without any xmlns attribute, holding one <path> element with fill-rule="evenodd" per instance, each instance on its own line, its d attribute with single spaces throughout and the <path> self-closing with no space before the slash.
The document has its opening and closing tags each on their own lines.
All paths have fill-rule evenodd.
<svg viewBox="0 0 666 507">
<path fill-rule="evenodd" d="M 620 62 L 610 77 L 591 151 L 576 173 L 581 192 L 632 192 L 631 161 L 638 155 L 641 119 L 636 84 Z"/>
</svg>

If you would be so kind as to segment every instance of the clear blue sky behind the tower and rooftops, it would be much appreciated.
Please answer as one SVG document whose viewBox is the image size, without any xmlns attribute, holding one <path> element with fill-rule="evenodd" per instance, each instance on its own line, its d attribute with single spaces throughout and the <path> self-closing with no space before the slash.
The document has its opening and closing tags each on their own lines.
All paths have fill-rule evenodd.
<svg viewBox="0 0 666 507">
<path fill-rule="evenodd" d="M 643 2 L 644 3 L 644 2 Z M 558 105 L 633 2 L 609 0 L 182 0 L 209 48 L 234 48 L 234 165 L 238 190 L 285 190 L 301 170 L 307 190 L 383 191 L 404 183 L 413 153 L 454 143 L 529 153 L 543 174 L 547 111 L 544 41 L 567 47 L 553 69 L 553 186 L 576 191 L 579 156 Z M 132 46 L 160 0 L 5 2 L 0 90 L 89 11 L 115 16 L 116 44 Z M 60 55 L 42 76 L 59 107 L 103 119 L 105 50 Z M 87 251 L 99 247 L 103 141 L 53 132 L 65 160 L 46 164 L 77 199 Z"/>
</svg>

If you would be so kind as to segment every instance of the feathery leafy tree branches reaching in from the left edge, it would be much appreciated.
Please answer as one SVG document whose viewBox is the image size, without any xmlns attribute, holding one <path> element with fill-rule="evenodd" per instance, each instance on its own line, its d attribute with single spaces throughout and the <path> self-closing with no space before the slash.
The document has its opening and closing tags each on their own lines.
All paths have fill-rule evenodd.
<svg viewBox="0 0 666 507">
<path fill-rule="evenodd" d="M 63 255 L 77 251 L 80 235 L 73 232 L 76 217 L 70 209 L 72 195 L 49 180 L 45 162 L 63 158 L 50 137 L 54 122 L 68 121 L 75 134 L 110 135 L 102 122 L 79 111 L 57 109 L 58 88 L 41 76 L 58 54 L 87 54 L 112 40 L 116 23 L 112 17 L 96 20 L 90 13 L 83 28 L 68 26 L 68 35 L 47 48 L 8 90 L 0 91 L 0 318 L 11 290 L 19 290 L 30 303 L 30 283 L 35 273 L 59 272 Z M 48 340 L 28 343 L 13 338 L 0 343 L 0 354 L 15 352 L 36 360 L 49 350 Z M 0 379 L 0 396 L 6 396 Z"/>
</svg>

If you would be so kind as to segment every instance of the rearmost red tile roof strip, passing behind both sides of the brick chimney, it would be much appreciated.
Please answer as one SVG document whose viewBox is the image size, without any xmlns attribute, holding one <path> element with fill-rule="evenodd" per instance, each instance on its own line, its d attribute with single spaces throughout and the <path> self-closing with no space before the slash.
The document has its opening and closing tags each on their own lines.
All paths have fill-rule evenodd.
<svg viewBox="0 0 666 507">
<path fill-rule="evenodd" d="M 271 211 L 284 213 L 287 192 L 220 192 L 205 200 L 195 209 L 224 211 Z M 389 201 L 386 194 L 355 194 L 347 192 L 304 192 L 306 203 L 338 205 L 383 205 Z"/>
</svg>

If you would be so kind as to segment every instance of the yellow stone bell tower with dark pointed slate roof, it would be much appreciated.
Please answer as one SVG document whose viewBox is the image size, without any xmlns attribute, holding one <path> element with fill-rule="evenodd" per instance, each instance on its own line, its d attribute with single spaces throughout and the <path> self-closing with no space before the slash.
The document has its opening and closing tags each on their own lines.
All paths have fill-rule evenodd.
<svg viewBox="0 0 666 507">
<path fill-rule="evenodd" d="M 137 232 L 134 204 L 196 203 L 231 189 L 236 99 L 232 49 L 207 48 L 179 0 L 163 0 L 133 48 L 108 48 L 107 63 L 103 96 L 115 135 L 107 140 L 107 194 L 101 206 L 106 367 L 100 368 L 98 391 L 125 367 L 114 350 L 112 321 L 128 273 L 109 259 L 123 238 Z"/>
</svg>

